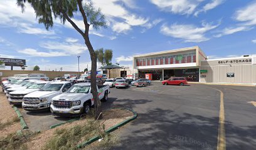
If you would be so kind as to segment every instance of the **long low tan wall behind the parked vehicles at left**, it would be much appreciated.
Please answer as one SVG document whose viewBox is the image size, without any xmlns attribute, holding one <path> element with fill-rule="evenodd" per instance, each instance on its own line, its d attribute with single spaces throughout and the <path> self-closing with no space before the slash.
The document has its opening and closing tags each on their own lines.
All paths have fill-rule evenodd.
<svg viewBox="0 0 256 150">
<path fill-rule="evenodd" d="M 78 74 L 78 72 L 74 71 L 17 71 L 17 70 L 0 70 L 0 73 L 3 73 L 3 76 L 0 78 L 13 76 L 14 74 L 46 74 L 51 79 L 56 77 L 63 77 L 64 74 Z M 82 73 L 80 73 L 81 75 Z"/>
</svg>

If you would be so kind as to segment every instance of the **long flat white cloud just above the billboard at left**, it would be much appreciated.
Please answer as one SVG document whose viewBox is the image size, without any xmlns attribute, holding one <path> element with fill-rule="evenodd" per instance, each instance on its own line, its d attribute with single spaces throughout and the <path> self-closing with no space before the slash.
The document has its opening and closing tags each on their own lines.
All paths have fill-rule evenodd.
<svg viewBox="0 0 256 150">
<path fill-rule="evenodd" d="M 46 58 L 68 56 L 68 54 L 65 54 L 63 52 L 56 52 L 56 51 L 40 52 L 40 51 L 37 51 L 36 49 L 31 49 L 31 48 L 18 50 L 18 53 L 26 54 L 28 56 L 46 57 Z"/>
</svg>

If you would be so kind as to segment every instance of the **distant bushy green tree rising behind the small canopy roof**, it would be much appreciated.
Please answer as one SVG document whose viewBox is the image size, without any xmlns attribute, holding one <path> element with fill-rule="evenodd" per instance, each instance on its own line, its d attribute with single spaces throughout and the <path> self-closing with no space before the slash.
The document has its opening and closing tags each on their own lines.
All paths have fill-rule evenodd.
<svg viewBox="0 0 256 150">
<path fill-rule="evenodd" d="M 112 57 L 113 57 L 113 51 L 112 49 L 97 49 L 95 51 L 96 55 L 97 55 L 97 61 L 102 64 L 102 66 L 106 66 L 106 65 L 110 65 L 112 64 Z"/>
</svg>

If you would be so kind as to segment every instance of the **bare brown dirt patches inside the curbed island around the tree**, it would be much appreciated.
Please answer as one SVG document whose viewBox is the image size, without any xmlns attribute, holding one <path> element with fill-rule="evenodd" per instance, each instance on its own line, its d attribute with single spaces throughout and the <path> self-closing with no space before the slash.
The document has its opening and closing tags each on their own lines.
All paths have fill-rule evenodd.
<svg viewBox="0 0 256 150">
<path fill-rule="evenodd" d="M 111 126 L 121 123 L 125 119 L 130 118 L 131 116 L 133 116 L 133 113 L 131 113 L 131 111 L 127 111 L 123 109 L 112 109 L 103 113 L 103 119 L 100 121 L 100 124 L 104 124 L 105 129 L 109 129 Z M 82 119 L 80 121 L 75 121 L 73 123 L 67 123 L 57 128 L 43 131 L 42 133 L 37 134 L 36 136 L 33 136 L 30 139 L 28 139 L 28 142 L 26 143 L 26 148 L 30 150 L 42 149 L 44 148 L 48 139 L 54 136 L 57 129 L 72 128 L 73 126 L 76 126 L 78 124 L 80 125 L 87 124 L 87 119 Z M 95 135 L 90 135 L 90 137 L 92 136 L 95 136 Z M 81 139 L 79 143 L 82 143 L 83 141 L 85 141 L 85 139 Z M 94 145 L 97 146 L 97 143 Z"/>
</svg>

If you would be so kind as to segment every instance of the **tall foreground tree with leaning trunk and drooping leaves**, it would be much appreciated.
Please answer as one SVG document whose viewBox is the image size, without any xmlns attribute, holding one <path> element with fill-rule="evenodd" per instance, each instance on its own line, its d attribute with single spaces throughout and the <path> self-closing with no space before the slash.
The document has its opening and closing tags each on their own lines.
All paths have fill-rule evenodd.
<svg viewBox="0 0 256 150">
<path fill-rule="evenodd" d="M 83 37 L 85 45 L 90 53 L 92 61 L 91 89 L 94 99 L 95 119 L 100 114 L 100 101 L 97 96 L 96 72 L 97 72 L 97 56 L 89 38 L 89 27 L 92 26 L 98 30 L 100 27 L 107 27 L 107 21 L 100 9 L 96 9 L 93 4 L 83 3 L 82 0 L 17 0 L 18 6 L 24 11 L 24 3 L 28 2 L 35 10 L 38 22 L 45 25 L 46 29 L 53 27 L 53 17 L 60 19 L 62 24 L 66 21 L 72 24 L 73 28 Z M 74 14 L 80 12 L 84 28 L 80 29 L 72 20 Z"/>
</svg>

